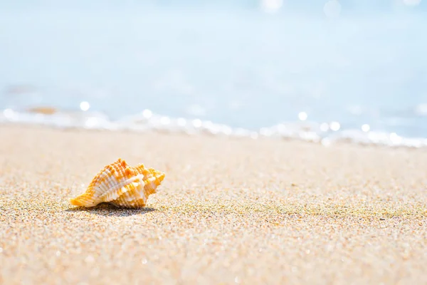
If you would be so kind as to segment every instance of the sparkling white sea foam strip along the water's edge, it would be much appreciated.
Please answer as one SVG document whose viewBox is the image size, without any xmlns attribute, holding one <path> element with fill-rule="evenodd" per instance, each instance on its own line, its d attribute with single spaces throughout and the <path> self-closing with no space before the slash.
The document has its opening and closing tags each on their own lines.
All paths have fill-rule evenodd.
<svg viewBox="0 0 427 285">
<path fill-rule="evenodd" d="M 334 142 L 350 142 L 362 145 L 384 145 L 390 147 L 427 147 L 427 138 L 405 138 L 396 133 L 375 132 L 362 128 L 337 128 L 337 122 L 280 123 L 260 130 L 231 128 L 209 120 L 170 118 L 154 114 L 149 110 L 130 115 L 119 120 L 110 120 L 99 112 L 56 111 L 53 114 L 33 113 L 23 110 L 5 109 L 0 113 L 0 123 L 20 123 L 28 125 L 45 125 L 53 128 L 80 128 L 85 130 L 129 130 L 133 132 L 157 131 L 163 133 L 184 133 L 187 135 L 216 135 L 233 138 L 251 139 L 295 139 L 307 142 L 318 142 L 329 146 Z M 332 127 L 334 128 L 331 128 Z"/>
</svg>

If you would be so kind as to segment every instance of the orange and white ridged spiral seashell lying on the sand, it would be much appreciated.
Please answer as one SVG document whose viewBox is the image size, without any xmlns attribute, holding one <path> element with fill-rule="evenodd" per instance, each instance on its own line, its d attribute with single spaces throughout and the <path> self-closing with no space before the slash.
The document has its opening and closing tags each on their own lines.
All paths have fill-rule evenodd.
<svg viewBox="0 0 427 285">
<path fill-rule="evenodd" d="M 102 202 L 116 207 L 145 207 L 149 195 L 156 193 L 163 179 L 163 172 L 142 164 L 131 167 L 119 158 L 98 172 L 86 192 L 70 199 L 70 203 L 83 207 L 95 207 Z"/>
</svg>

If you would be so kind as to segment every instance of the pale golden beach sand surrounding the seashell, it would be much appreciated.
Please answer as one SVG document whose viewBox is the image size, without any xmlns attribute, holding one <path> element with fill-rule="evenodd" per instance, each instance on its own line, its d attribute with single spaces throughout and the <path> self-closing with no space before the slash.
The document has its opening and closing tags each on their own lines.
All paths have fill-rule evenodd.
<svg viewBox="0 0 427 285">
<path fill-rule="evenodd" d="M 427 151 L 0 126 L 0 284 L 427 284 Z M 68 203 L 118 157 L 145 209 Z"/>
</svg>

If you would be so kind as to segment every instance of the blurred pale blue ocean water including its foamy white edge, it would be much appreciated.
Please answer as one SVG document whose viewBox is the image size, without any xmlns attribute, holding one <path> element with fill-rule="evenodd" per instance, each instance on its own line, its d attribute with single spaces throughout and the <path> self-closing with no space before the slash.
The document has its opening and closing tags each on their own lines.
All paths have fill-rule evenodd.
<svg viewBox="0 0 427 285">
<path fill-rule="evenodd" d="M 0 122 L 427 146 L 425 2 L 230 3 L 0 0 Z"/>
</svg>

